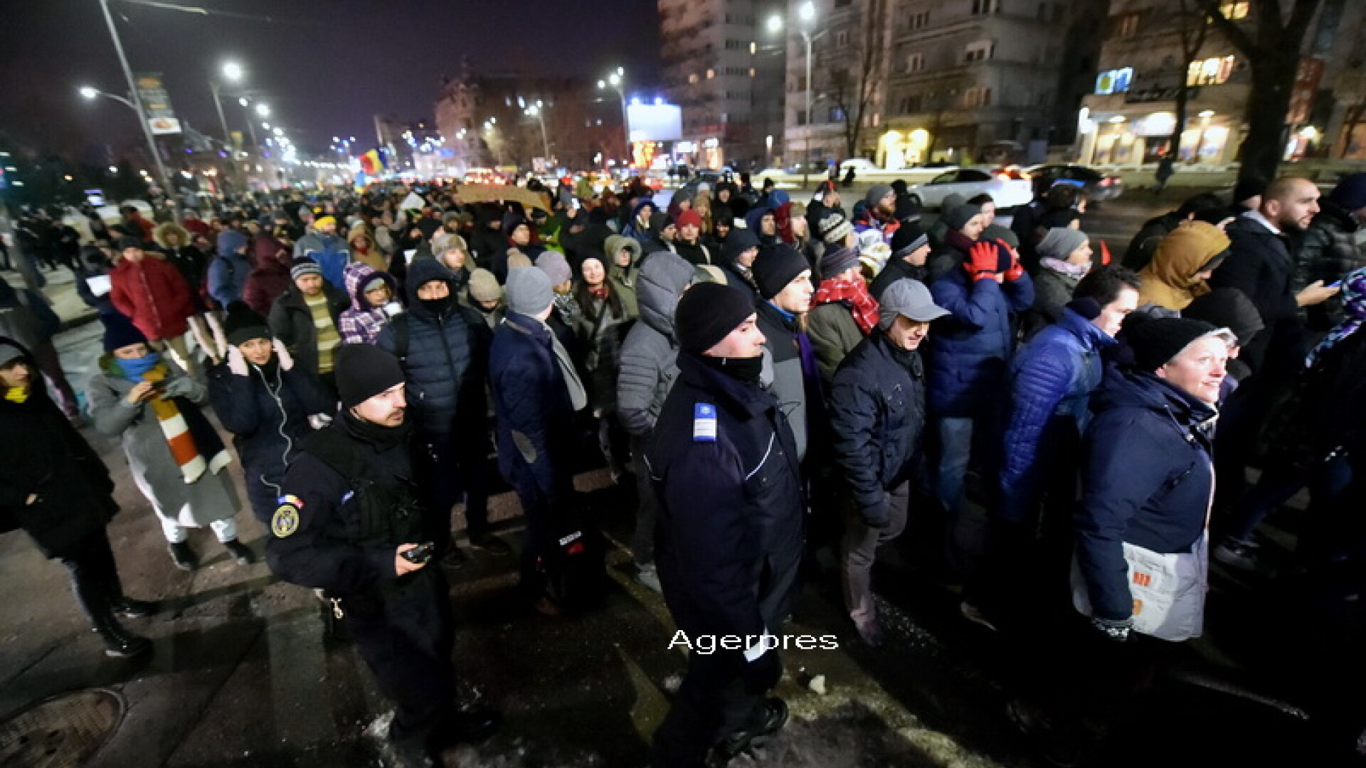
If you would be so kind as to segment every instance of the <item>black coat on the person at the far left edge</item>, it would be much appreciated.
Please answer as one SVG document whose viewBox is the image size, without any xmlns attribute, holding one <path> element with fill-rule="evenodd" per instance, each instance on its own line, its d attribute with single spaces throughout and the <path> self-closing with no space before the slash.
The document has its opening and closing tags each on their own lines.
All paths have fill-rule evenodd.
<svg viewBox="0 0 1366 768">
<path fill-rule="evenodd" d="M 119 511 L 109 470 L 48 396 L 37 368 L 26 402 L 0 399 L 0 532 L 22 527 L 44 555 L 61 558 Z M 33 504 L 30 493 L 38 495 Z"/>
</svg>

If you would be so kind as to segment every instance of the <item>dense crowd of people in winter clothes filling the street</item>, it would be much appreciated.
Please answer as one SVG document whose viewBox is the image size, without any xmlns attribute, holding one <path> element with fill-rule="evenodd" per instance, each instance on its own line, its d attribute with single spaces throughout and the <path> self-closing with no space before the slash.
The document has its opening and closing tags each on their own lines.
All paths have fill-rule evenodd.
<svg viewBox="0 0 1366 768">
<path fill-rule="evenodd" d="M 522 504 L 522 597 L 560 615 L 591 584 L 571 555 L 591 549 L 574 474 L 593 447 L 613 482 L 631 476 L 635 578 L 693 633 L 781 634 L 805 559 L 816 578 L 831 564 L 852 635 L 880 646 L 878 548 L 932 521 L 933 567 L 963 585 L 966 619 L 1007 637 L 1046 620 L 1086 648 L 1053 661 L 1091 666 L 1078 675 L 1090 697 L 1064 707 L 1022 679 L 1011 709 L 1041 738 L 1061 709 L 1101 723 L 1079 749 L 1138 690 L 1154 638 L 1201 634 L 1210 552 L 1273 575 L 1258 526 L 1302 488 L 1291 568 L 1359 592 L 1366 174 L 1322 198 L 1295 178 L 1193 197 L 1145 224 L 1123 264 L 1086 234 L 1085 193 L 1065 184 L 1009 227 L 988 195 L 947 200 L 925 227 L 904 184 L 873 184 L 850 210 L 829 183 L 802 204 L 747 178 L 668 205 L 638 182 L 525 191 L 541 197 L 257 195 L 160 225 L 128 209 L 92 221 L 85 246 L 44 216 L 22 221 L 33 290 L 0 283 L 0 429 L 26 447 L 0 469 L 4 519 L 71 568 L 111 655 L 148 650 L 115 616 L 152 607 L 119 586 L 112 485 L 74 429 L 41 264 L 71 268 L 105 324 L 89 420 L 122 440 L 182 568 L 197 566 L 189 527 L 254 559 L 235 525 L 240 462 L 284 578 L 333 601 L 415 600 L 377 585 L 434 570 L 402 558 L 410 544 L 432 543 L 447 566 L 467 558 L 458 511 L 469 548 L 512 555 L 488 519 L 492 451 Z M 311 515 L 329 507 L 305 486 L 344 485 L 322 467 L 354 452 L 320 437 L 332 433 L 377 456 L 404 445 L 393 477 L 411 488 L 384 499 L 422 510 L 388 540 L 352 532 L 354 556 L 335 541 L 307 553 L 324 547 Z M 44 512 L 59 506 L 60 521 Z M 374 543 L 384 558 L 362 552 Z M 1142 592 L 1150 581 L 1171 586 Z M 381 683 L 417 674 L 370 655 L 359 615 Z M 764 641 L 693 655 L 654 764 L 701 765 L 780 728 L 777 656 Z M 385 687 L 395 743 L 422 764 L 441 726 L 402 689 Z M 456 715 L 460 738 L 490 728 Z"/>
</svg>

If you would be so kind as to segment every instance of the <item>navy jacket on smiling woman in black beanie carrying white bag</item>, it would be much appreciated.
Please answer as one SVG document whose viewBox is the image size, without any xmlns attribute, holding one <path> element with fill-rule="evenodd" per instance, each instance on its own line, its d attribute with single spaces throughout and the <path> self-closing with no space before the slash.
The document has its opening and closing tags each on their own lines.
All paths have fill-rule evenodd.
<svg viewBox="0 0 1366 768">
<path fill-rule="evenodd" d="M 1205 530 L 1217 411 L 1152 373 L 1115 366 L 1091 395 L 1091 411 L 1076 560 L 1094 615 L 1121 620 L 1134 609 L 1124 543 L 1184 552 Z"/>
</svg>

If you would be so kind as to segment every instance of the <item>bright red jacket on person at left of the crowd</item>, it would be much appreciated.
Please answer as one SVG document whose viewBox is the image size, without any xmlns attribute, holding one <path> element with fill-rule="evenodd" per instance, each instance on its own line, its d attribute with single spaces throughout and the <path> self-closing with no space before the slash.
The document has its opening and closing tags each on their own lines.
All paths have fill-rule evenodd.
<svg viewBox="0 0 1366 768">
<path fill-rule="evenodd" d="M 120 258 L 109 272 L 109 301 L 149 342 L 173 339 L 190 329 L 187 318 L 194 314 L 194 301 L 175 266 L 153 256 L 138 262 Z"/>
</svg>

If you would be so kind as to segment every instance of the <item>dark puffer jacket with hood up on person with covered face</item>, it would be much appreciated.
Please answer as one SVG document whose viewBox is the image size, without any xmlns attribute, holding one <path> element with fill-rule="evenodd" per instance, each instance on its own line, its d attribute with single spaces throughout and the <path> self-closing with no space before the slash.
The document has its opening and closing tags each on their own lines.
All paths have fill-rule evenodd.
<svg viewBox="0 0 1366 768">
<path fill-rule="evenodd" d="M 418 287 L 432 280 L 451 286 L 451 305 L 441 316 L 418 299 Z M 455 276 L 434 258 L 413 260 L 406 286 L 408 312 L 380 329 L 376 344 L 393 353 L 403 365 L 413 422 L 432 437 L 481 435 L 488 411 L 484 380 L 489 327 L 455 301 Z M 407 354 L 400 354 L 402 332 L 396 325 L 407 327 Z"/>
</svg>

